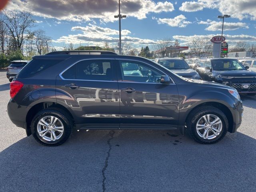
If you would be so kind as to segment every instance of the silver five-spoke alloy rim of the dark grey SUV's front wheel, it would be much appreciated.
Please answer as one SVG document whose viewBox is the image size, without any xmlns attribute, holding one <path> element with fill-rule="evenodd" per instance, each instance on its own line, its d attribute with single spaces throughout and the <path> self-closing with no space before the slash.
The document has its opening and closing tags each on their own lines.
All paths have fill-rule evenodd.
<svg viewBox="0 0 256 192">
<path fill-rule="evenodd" d="M 214 139 L 222 130 L 221 119 L 213 114 L 202 116 L 196 123 L 196 132 L 203 139 Z"/>
</svg>

